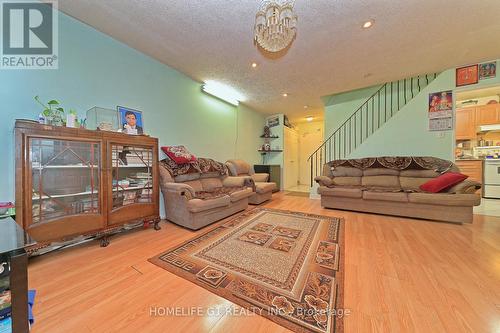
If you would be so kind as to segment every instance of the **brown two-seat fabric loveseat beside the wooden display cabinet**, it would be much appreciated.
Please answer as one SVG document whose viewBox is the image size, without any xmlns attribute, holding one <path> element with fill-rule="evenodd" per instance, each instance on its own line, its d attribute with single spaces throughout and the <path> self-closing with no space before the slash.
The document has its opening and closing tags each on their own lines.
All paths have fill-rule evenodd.
<svg viewBox="0 0 500 333">
<path fill-rule="evenodd" d="M 160 162 L 160 187 L 167 219 L 197 230 L 248 207 L 253 183 L 228 176 L 224 164 L 198 158 L 196 163 Z"/>
</svg>

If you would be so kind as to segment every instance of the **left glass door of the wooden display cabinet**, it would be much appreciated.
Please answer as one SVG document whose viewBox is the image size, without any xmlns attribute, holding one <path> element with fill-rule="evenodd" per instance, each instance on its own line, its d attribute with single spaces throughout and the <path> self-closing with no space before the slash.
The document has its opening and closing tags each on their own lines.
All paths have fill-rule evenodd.
<svg viewBox="0 0 500 333">
<path fill-rule="evenodd" d="M 32 225 L 101 213 L 99 142 L 30 138 L 29 160 Z"/>
</svg>

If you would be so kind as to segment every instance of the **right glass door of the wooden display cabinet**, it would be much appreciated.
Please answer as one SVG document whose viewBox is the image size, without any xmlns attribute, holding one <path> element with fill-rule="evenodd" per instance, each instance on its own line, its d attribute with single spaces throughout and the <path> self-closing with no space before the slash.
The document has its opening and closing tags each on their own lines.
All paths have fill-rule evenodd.
<svg viewBox="0 0 500 333">
<path fill-rule="evenodd" d="M 111 145 L 112 211 L 153 203 L 153 148 Z"/>
</svg>

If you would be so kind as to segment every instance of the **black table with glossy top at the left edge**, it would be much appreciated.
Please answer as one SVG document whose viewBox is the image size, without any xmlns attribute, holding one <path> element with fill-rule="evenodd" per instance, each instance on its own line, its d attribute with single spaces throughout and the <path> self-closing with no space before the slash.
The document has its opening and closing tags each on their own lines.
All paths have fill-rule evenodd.
<svg viewBox="0 0 500 333">
<path fill-rule="evenodd" d="M 0 277 L 8 276 L 9 280 L 13 333 L 29 331 L 28 255 L 24 250 L 28 241 L 28 236 L 11 217 L 0 219 L 0 265 L 4 266 Z"/>
</svg>

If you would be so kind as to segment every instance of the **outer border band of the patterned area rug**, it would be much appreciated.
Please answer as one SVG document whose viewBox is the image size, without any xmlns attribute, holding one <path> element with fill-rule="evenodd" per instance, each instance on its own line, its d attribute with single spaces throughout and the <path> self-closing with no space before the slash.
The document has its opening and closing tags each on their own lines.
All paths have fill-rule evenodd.
<svg viewBox="0 0 500 333">
<path fill-rule="evenodd" d="M 162 260 L 160 258 L 163 255 L 190 243 L 193 239 L 197 239 L 201 236 L 204 236 L 208 233 L 211 233 L 212 231 L 214 231 L 220 227 L 223 227 L 224 224 L 231 222 L 233 219 L 240 218 L 240 217 L 244 216 L 245 214 L 255 213 L 256 211 L 274 211 L 274 212 L 290 213 L 290 214 L 299 213 L 299 214 L 302 214 L 304 216 L 309 216 L 309 217 L 325 217 L 325 218 L 329 218 L 329 219 L 337 218 L 340 221 L 339 229 L 338 229 L 338 245 L 339 245 L 338 267 L 339 267 L 339 269 L 336 271 L 336 274 L 335 274 L 337 290 L 335 291 L 336 296 L 335 296 L 335 307 L 334 308 L 335 309 L 344 309 L 344 269 L 345 269 L 345 243 L 344 243 L 345 242 L 345 220 L 344 220 L 344 218 L 338 218 L 338 217 L 327 216 L 327 215 L 319 215 L 319 214 L 310 214 L 310 213 L 305 213 L 305 212 L 300 212 L 300 211 L 256 207 L 256 208 L 253 208 L 252 210 L 246 210 L 242 213 L 233 215 L 230 218 L 227 218 L 227 219 L 224 219 L 220 222 L 217 222 L 212 227 L 205 228 L 203 230 L 203 232 L 196 234 L 193 237 L 190 237 L 186 241 L 181 242 L 175 246 L 171 246 L 170 248 L 161 252 L 160 254 L 155 255 L 154 257 L 148 259 L 148 261 L 156 266 L 159 266 L 159 267 L 165 269 L 166 271 L 168 271 L 170 273 L 173 273 L 173 274 L 175 274 L 183 279 L 186 279 L 186 280 L 196 284 L 197 286 L 200 286 L 204 289 L 207 289 L 208 291 L 211 291 L 212 293 L 214 293 L 217 296 L 223 297 L 223 298 L 225 298 L 225 299 L 227 299 L 227 300 L 229 300 L 229 301 L 231 301 L 231 302 L 233 302 L 233 303 L 235 303 L 235 304 L 237 304 L 245 309 L 252 310 L 255 308 L 254 304 L 246 301 L 245 299 L 243 299 L 241 297 L 237 297 L 237 296 L 233 295 L 227 289 L 214 288 L 213 286 L 211 286 L 208 283 L 203 283 L 203 281 L 200 281 L 197 278 L 196 274 L 187 272 L 186 270 L 184 270 L 182 268 L 168 264 L 167 262 L 165 262 L 164 260 Z M 266 317 L 267 319 L 269 319 L 269 320 L 271 320 L 271 321 L 273 321 L 273 322 L 275 322 L 275 323 L 277 323 L 285 328 L 293 330 L 295 332 L 311 332 L 311 330 L 308 330 L 306 328 L 302 328 L 301 326 L 293 323 L 290 320 L 287 320 L 287 319 L 282 318 L 282 317 L 277 316 L 277 315 L 269 314 L 267 311 L 262 311 L 261 313 L 257 313 L 257 314 L 259 314 L 263 317 Z M 343 319 L 344 319 L 343 316 L 334 316 L 334 323 L 332 325 L 333 326 L 332 328 L 334 328 L 333 332 L 341 333 L 344 331 L 344 320 Z"/>
</svg>

